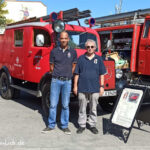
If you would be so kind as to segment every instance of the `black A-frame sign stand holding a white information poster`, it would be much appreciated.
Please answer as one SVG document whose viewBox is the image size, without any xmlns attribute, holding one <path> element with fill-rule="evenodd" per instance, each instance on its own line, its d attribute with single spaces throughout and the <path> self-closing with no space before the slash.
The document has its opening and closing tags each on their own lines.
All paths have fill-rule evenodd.
<svg viewBox="0 0 150 150">
<path fill-rule="evenodd" d="M 147 88 L 127 86 L 117 99 L 110 119 L 103 118 L 103 133 L 122 138 L 127 143 Z"/>
</svg>

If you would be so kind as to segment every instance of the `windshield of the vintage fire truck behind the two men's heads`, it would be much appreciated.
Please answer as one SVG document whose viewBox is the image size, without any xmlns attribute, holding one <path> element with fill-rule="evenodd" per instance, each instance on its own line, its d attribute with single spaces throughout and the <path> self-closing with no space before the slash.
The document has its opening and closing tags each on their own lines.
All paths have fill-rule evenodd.
<svg viewBox="0 0 150 150">
<path fill-rule="evenodd" d="M 88 39 L 94 40 L 97 45 L 97 38 L 96 35 L 94 34 L 88 32 L 75 32 L 75 31 L 67 31 L 67 32 L 70 38 L 69 46 L 73 49 L 85 49 L 85 42 Z M 96 49 L 96 51 L 98 51 L 98 48 Z"/>
</svg>

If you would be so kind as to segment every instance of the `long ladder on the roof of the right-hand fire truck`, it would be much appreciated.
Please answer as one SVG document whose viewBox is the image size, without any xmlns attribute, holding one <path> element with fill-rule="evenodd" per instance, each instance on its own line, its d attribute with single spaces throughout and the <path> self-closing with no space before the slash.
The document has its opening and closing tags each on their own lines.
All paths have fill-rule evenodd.
<svg viewBox="0 0 150 150">
<path fill-rule="evenodd" d="M 148 9 L 139 9 L 131 12 L 125 12 L 120 14 L 114 14 L 104 17 L 98 17 L 95 19 L 95 25 L 101 25 L 106 23 L 114 23 L 120 21 L 136 20 L 143 19 L 145 16 L 150 15 L 150 8 Z M 88 20 L 85 20 L 85 24 L 88 24 Z"/>
</svg>

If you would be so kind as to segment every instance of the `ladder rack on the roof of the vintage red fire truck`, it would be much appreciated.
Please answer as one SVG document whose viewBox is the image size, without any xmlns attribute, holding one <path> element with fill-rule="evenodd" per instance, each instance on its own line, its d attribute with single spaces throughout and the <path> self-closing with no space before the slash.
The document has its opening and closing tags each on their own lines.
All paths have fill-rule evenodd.
<svg viewBox="0 0 150 150">
<path fill-rule="evenodd" d="M 55 14 L 57 14 L 58 19 L 63 20 L 64 22 L 70 22 L 70 21 L 78 21 L 79 19 L 90 17 L 91 16 L 90 13 L 91 13 L 90 10 L 79 11 L 77 8 L 73 8 L 65 11 L 60 11 L 59 13 L 55 13 Z M 21 24 L 21 23 L 29 23 L 29 22 L 52 22 L 51 14 L 39 18 L 33 17 L 26 20 L 14 22 L 8 24 L 7 26 Z"/>
</svg>

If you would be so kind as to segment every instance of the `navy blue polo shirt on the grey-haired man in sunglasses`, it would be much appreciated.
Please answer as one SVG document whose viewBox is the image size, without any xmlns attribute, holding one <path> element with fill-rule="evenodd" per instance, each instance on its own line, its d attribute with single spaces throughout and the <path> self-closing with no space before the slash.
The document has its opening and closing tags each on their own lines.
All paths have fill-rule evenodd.
<svg viewBox="0 0 150 150">
<path fill-rule="evenodd" d="M 89 60 L 86 54 L 80 56 L 75 69 L 75 74 L 79 75 L 78 92 L 99 93 L 99 76 L 105 73 L 102 57 L 95 54 L 94 58 Z"/>
</svg>

